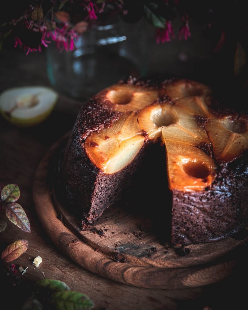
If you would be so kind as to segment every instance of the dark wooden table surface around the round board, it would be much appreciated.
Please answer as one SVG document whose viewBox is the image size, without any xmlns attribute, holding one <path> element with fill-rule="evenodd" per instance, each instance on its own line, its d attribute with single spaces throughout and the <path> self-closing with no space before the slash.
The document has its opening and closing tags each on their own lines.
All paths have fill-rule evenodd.
<svg viewBox="0 0 248 310">
<path fill-rule="evenodd" d="M 0 91 L 22 85 L 49 86 L 45 66 L 44 53 L 26 56 L 23 51 L 3 50 L 0 54 Z M 20 309 L 31 294 L 33 282 L 45 276 L 64 281 L 72 290 L 87 294 L 94 301 L 95 309 L 247 309 L 247 251 L 237 258 L 237 267 L 224 281 L 193 289 L 151 290 L 99 277 L 73 263 L 52 244 L 34 209 L 33 178 L 49 146 L 72 128 L 80 106 L 79 101 L 60 95 L 51 116 L 33 128 L 16 128 L 0 118 L 0 181 L 19 185 L 18 202 L 31 224 L 31 234 L 28 234 L 5 217 L 7 228 L 0 234 L 0 251 L 17 239 L 28 239 L 27 252 L 13 263 L 29 268 L 24 275 L 11 277 L 1 261 L 0 303 L 6 301 L 8 309 Z M 2 211 L 0 216 L 4 218 Z M 38 255 L 43 262 L 35 268 L 32 262 Z M 3 309 L 1 305 L 0 308 Z"/>
</svg>

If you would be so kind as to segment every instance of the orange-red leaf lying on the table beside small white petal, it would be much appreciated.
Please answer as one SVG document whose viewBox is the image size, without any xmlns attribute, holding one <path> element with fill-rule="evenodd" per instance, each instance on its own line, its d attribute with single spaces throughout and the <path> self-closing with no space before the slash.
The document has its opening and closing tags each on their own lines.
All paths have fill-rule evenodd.
<svg viewBox="0 0 248 310">
<path fill-rule="evenodd" d="M 5 263 L 11 262 L 17 259 L 20 255 L 26 252 L 28 249 L 29 242 L 25 239 L 19 239 L 10 245 L 2 252 L 2 260 Z"/>
</svg>

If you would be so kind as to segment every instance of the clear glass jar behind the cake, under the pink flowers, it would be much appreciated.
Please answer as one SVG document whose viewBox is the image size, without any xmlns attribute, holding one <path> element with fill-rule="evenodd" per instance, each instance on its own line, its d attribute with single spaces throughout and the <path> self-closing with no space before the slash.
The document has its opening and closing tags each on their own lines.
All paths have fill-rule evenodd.
<svg viewBox="0 0 248 310">
<path fill-rule="evenodd" d="M 91 24 L 75 45 L 76 50 L 61 53 L 54 42 L 47 48 L 48 78 L 70 97 L 87 99 L 129 75 L 146 74 L 143 20 Z"/>
</svg>

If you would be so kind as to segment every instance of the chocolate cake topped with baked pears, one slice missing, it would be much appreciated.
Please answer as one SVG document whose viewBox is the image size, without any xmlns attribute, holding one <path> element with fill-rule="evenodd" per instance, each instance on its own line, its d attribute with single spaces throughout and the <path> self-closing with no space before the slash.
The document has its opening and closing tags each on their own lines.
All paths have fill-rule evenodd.
<svg viewBox="0 0 248 310">
<path fill-rule="evenodd" d="M 64 152 L 65 192 L 83 229 L 122 199 L 155 144 L 166 153 L 173 244 L 215 241 L 247 224 L 247 115 L 198 82 L 129 78 L 82 106 Z"/>
</svg>

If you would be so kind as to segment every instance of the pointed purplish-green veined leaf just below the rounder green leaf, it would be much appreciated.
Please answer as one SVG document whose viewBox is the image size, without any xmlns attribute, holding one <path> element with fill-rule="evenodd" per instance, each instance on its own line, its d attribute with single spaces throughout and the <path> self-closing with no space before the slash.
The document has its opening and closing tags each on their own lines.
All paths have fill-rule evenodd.
<svg viewBox="0 0 248 310">
<path fill-rule="evenodd" d="M 29 219 L 19 203 L 12 202 L 6 208 L 7 218 L 24 232 L 31 232 Z"/>
</svg>

